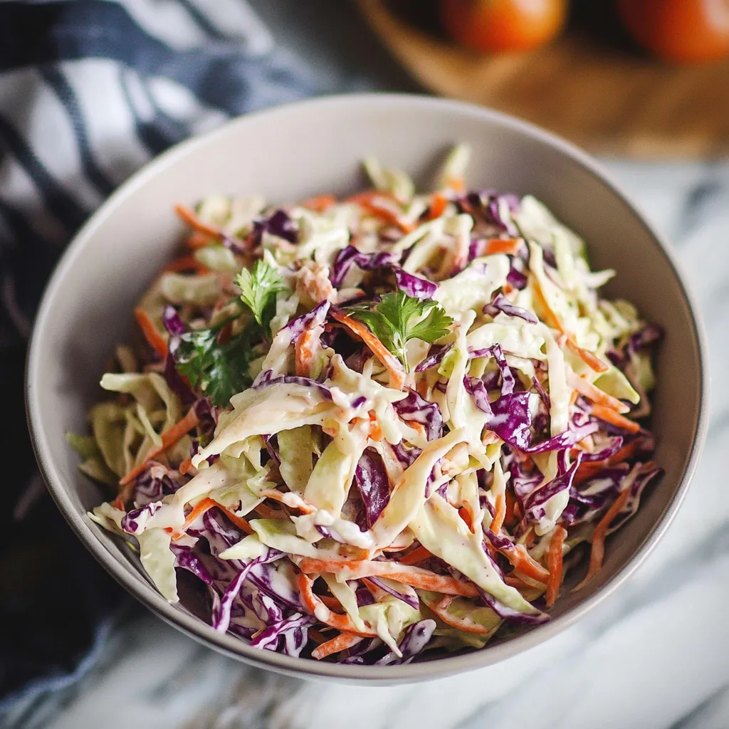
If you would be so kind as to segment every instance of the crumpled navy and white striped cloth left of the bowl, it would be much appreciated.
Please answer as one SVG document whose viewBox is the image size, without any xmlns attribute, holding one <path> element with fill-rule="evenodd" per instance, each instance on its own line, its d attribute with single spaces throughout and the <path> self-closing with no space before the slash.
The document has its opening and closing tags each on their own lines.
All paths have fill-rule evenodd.
<svg viewBox="0 0 729 729">
<path fill-rule="evenodd" d="M 0 510 L 0 721 L 72 682 L 125 601 L 44 494 L 22 426 L 26 341 L 53 265 L 163 149 L 318 90 L 244 0 L 0 2 L 1 443 L 17 454 Z"/>
</svg>

